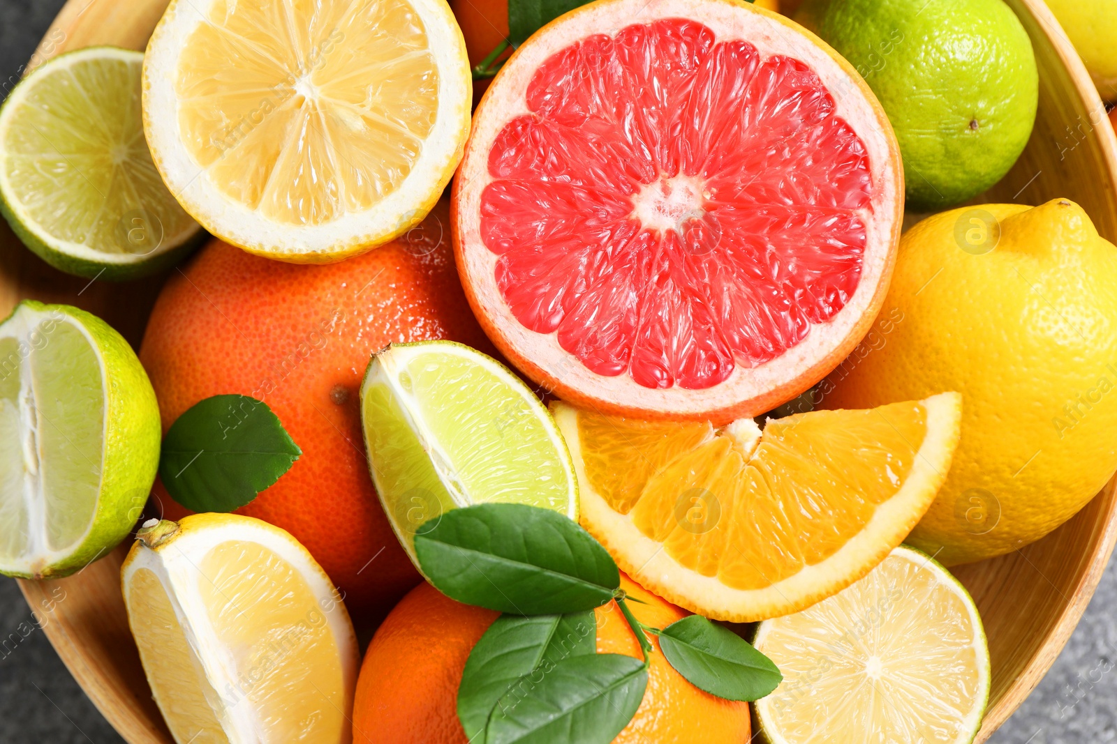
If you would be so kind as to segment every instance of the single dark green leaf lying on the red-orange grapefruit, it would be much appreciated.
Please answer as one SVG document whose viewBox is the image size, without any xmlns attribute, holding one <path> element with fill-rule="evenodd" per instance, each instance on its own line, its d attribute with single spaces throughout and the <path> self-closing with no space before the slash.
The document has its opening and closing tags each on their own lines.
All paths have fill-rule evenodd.
<svg viewBox="0 0 1117 744">
<path fill-rule="evenodd" d="M 279 480 L 300 454 L 267 404 L 247 395 L 214 395 L 171 424 L 159 476 L 187 509 L 231 512 Z"/>
</svg>

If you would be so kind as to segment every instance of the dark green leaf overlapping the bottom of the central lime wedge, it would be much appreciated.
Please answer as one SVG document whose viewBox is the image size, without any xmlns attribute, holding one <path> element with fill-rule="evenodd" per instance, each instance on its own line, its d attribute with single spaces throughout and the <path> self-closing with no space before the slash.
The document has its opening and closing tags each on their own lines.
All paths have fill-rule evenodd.
<svg viewBox="0 0 1117 744">
<path fill-rule="evenodd" d="M 477 504 L 416 532 L 422 572 L 447 597 L 510 615 L 600 607 L 620 587 L 617 563 L 590 533 L 550 509 Z"/>
</svg>

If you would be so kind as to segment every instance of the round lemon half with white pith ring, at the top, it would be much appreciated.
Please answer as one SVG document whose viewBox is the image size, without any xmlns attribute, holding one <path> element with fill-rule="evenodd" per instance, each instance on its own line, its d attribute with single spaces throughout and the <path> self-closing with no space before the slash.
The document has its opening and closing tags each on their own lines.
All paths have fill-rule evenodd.
<svg viewBox="0 0 1117 744">
<path fill-rule="evenodd" d="M 143 71 L 171 192 L 222 240 L 286 261 L 341 260 L 420 222 L 469 132 L 445 0 L 173 0 Z"/>
</svg>

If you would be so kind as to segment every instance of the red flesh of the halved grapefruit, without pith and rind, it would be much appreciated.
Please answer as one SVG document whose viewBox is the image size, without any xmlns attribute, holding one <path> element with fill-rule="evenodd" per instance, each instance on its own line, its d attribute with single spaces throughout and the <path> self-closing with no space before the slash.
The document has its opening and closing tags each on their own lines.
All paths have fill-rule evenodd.
<svg viewBox="0 0 1117 744">
<path fill-rule="evenodd" d="M 515 318 L 591 371 L 709 388 L 857 290 L 868 153 L 804 62 L 668 18 L 552 55 L 525 99 L 480 236 Z"/>
</svg>

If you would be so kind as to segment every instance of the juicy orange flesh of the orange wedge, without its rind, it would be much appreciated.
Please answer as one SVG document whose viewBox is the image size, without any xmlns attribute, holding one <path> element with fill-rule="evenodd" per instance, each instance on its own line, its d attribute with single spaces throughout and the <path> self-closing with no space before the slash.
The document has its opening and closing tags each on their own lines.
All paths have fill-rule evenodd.
<svg viewBox="0 0 1117 744">
<path fill-rule="evenodd" d="M 747 457 L 699 426 L 579 412 L 586 480 L 685 568 L 762 589 L 861 531 L 907 479 L 927 422 L 919 403 L 801 414 L 770 421 Z M 632 446 L 650 428 L 656 446 Z"/>
</svg>

